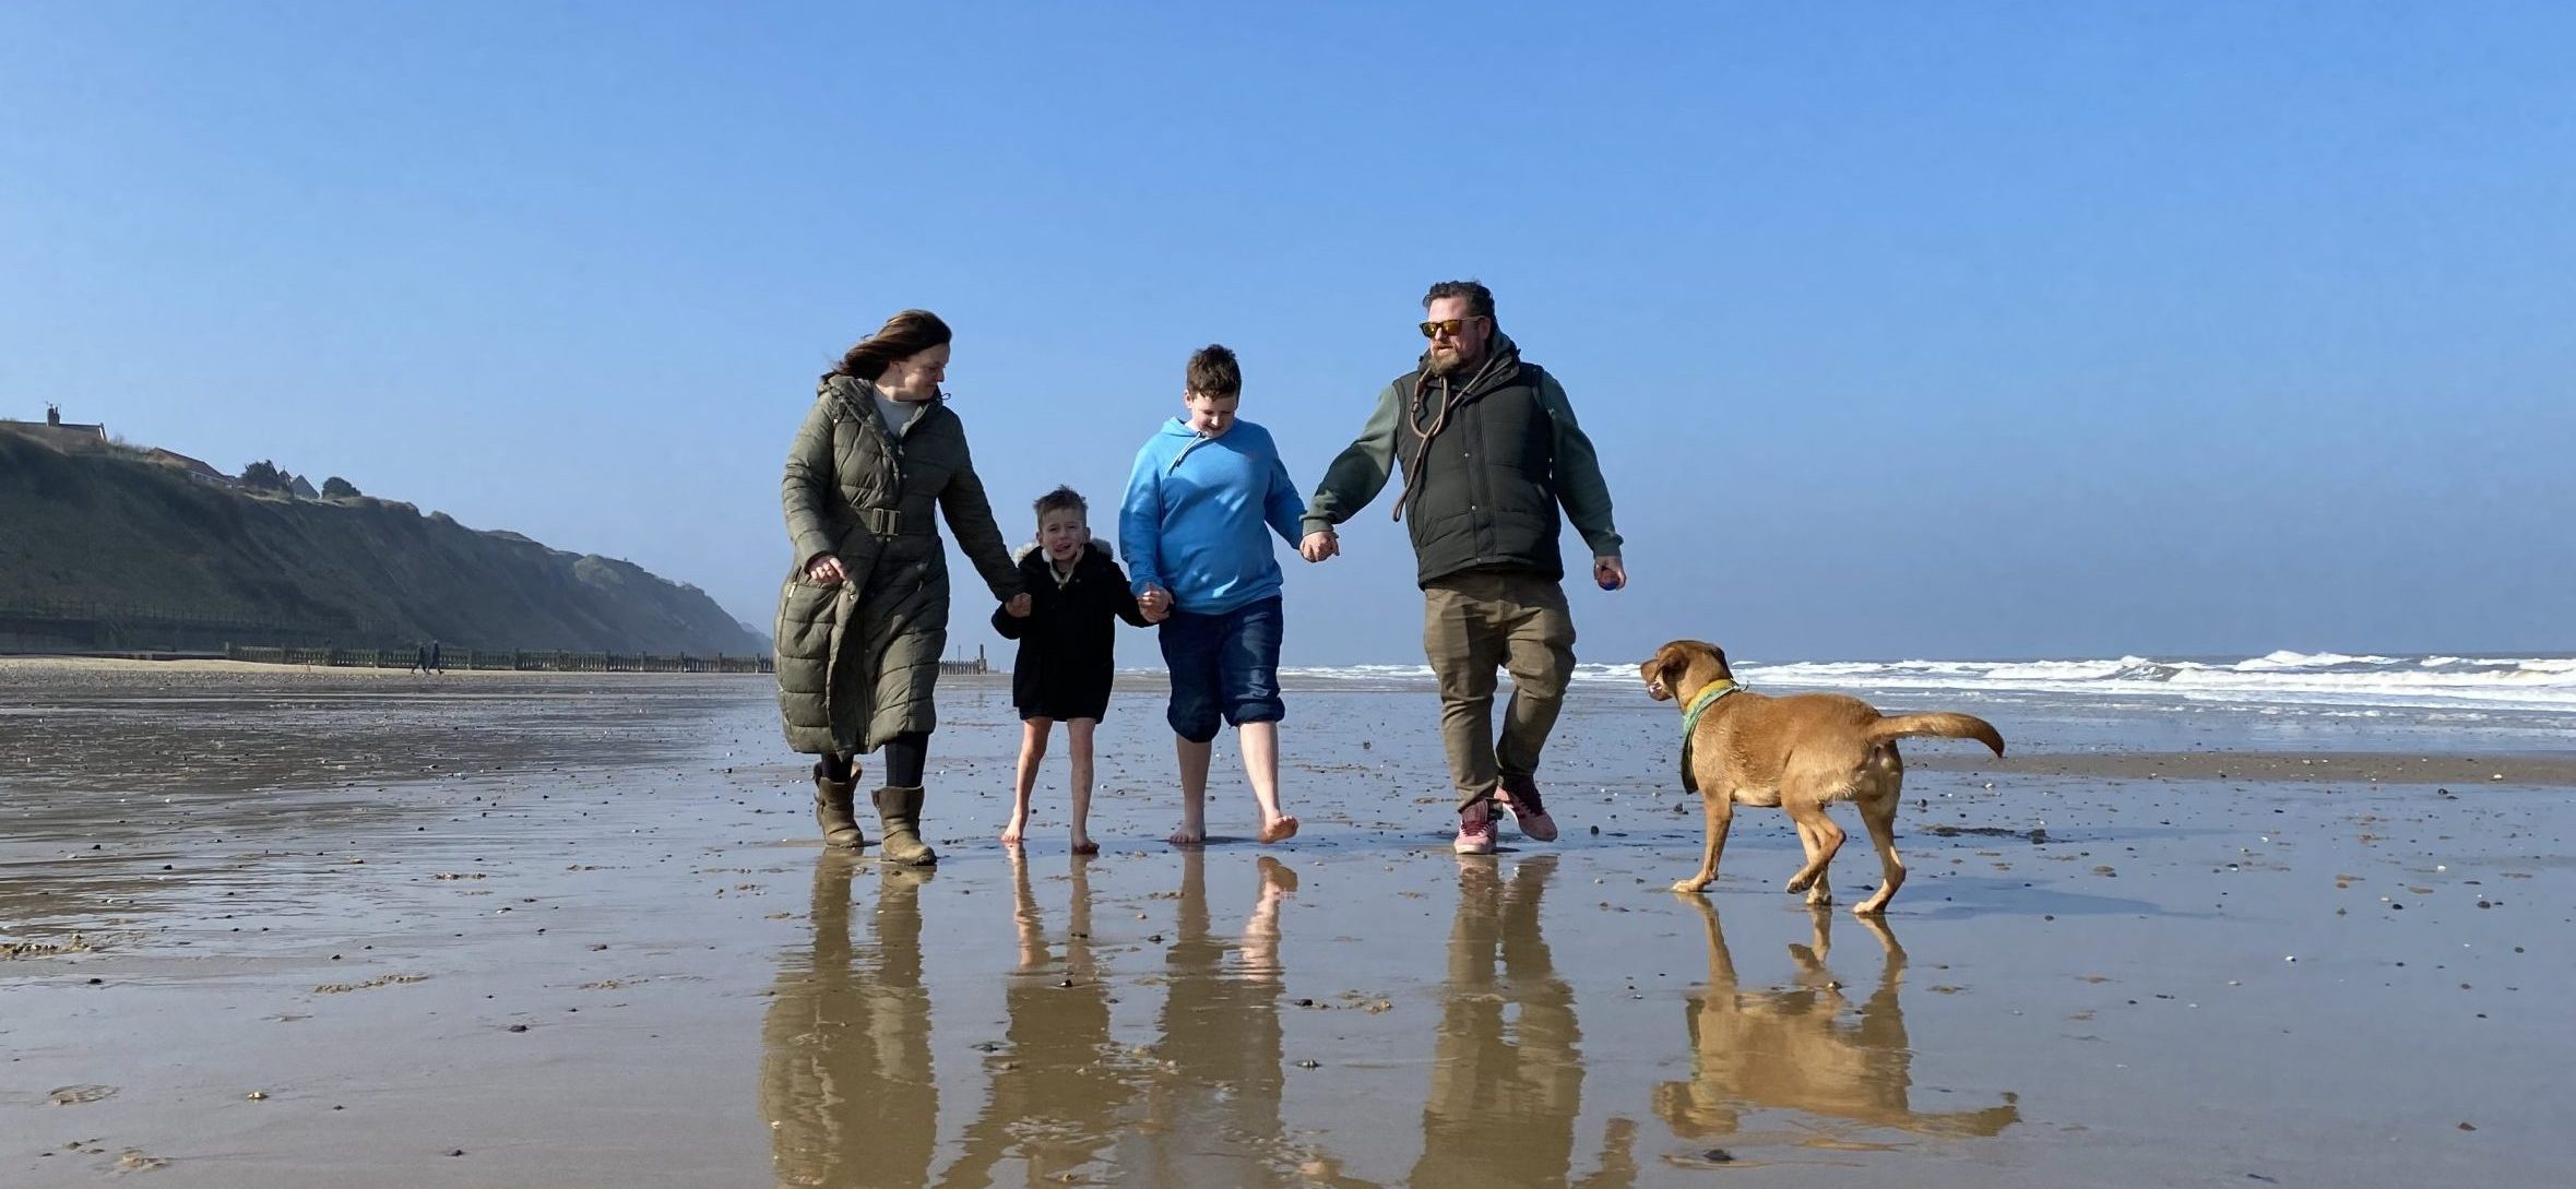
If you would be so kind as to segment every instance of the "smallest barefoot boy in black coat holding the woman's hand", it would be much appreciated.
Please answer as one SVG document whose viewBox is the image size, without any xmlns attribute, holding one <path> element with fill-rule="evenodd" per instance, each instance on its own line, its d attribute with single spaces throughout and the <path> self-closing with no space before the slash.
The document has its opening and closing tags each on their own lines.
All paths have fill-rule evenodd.
<svg viewBox="0 0 2576 1189">
<path fill-rule="evenodd" d="M 1028 829 L 1028 793 L 1038 785 L 1046 736 L 1064 723 L 1074 744 L 1074 854 L 1100 854 L 1092 842 L 1092 731 L 1110 708 L 1118 669 L 1113 618 L 1144 628 L 1149 620 L 1128 592 L 1126 574 L 1092 543 L 1090 504 L 1072 486 L 1038 497 L 1038 543 L 1020 548 L 1028 615 L 992 613 L 992 631 L 1020 641 L 1010 667 L 1010 703 L 1020 710 L 1020 775 L 1012 788 L 1002 844 L 1018 847 Z"/>
</svg>

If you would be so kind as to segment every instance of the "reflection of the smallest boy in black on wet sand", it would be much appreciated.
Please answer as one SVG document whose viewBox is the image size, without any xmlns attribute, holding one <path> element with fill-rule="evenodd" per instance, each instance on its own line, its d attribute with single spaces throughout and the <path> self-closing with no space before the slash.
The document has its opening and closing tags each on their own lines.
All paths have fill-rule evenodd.
<svg viewBox="0 0 2576 1189">
<path fill-rule="evenodd" d="M 1023 1184 L 1097 1181 L 1141 1063 L 1110 1042 L 1110 981 L 1092 957 L 1092 860 L 1072 857 L 1064 957 L 1048 950 L 1028 860 L 1010 854 L 1020 970 L 1005 991 L 1010 1047 L 984 1060 L 984 1112 L 938 1184 L 979 1189 L 1018 1161 Z"/>
</svg>

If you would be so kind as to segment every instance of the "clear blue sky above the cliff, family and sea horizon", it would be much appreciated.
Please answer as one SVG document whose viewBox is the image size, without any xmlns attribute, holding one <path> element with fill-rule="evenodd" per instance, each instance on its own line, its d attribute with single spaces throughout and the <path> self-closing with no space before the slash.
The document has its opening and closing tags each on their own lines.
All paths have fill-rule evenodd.
<svg viewBox="0 0 2576 1189">
<path fill-rule="evenodd" d="M 0 417 L 768 623 L 894 309 L 1025 535 L 1203 342 L 1311 486 L 1473 275 L 1631 540 L 1584 659 L 2576 649 L 2576 8 L 1273 8 L 5 5 Z M 1345 548 L 1288 659 L 1419 661 Z"/>
</svg>

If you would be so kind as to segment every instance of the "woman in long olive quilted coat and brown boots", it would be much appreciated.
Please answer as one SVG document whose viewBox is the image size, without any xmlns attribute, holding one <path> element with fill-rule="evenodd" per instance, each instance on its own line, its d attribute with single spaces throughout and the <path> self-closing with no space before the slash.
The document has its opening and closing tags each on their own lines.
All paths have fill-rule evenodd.
<svg viewBox="0 0 2576 1189">
<path fill-rule="evenodd" d="M 786 512 L 796 571 L 778 597 L 778 708 L 788 746 L 819 757 L 814 818 L 824 844 L 866 847 L 858 754 L 886 749 L 873 793 L 881 847 L 927 867 L 922 762 L 948 651 L 948 551 L 933 507 L 992 597 L 1028 615 L 1020 569 L 992 522 L 966 425 L 948 412 L 948 324 L 907 309 L 822 376 L 788 448 Z"/>
</svg>

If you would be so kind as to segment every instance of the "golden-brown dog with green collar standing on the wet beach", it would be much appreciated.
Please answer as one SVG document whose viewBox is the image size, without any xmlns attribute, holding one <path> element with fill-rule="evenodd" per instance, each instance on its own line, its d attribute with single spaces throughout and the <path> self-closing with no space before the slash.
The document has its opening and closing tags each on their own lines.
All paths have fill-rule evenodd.
<svg viewBox="0 0 2576 1189">
<path fill-rule="evenodd" d="M 1788 890 L 1806 903 L 1829 906 L 1834 893 L 1824 870 L 1842 849 L 1842 829 L 1824 808 L 1837 800 L 1860 806 L 1860 821 L 1878 847 L 1886 883 L 1852 906 L 1860 916 L 1888 911 L 1888 898 L 1906 883 L 1896 860 L 1896 798 L 1906 762 L 1896 757 L 1904 736 L 1976 739 L 2004 754 L 2004 736 L 1991 723 L 1958 713 L 1880 715 L 1870 703 L 1844 695 L 1765 697 L 1736 685 L 1726 654 L 1705 641 L 1672 641 L 1641 664 L 1646 692 L 1659 703 L 1682 705 L 1682 788 L 1698 790 L 1708 808 L 1708 849 L 1700 872 L 1672 885 L 1695 893 L 1718 878 L 1718 852 L 1736 806 L 1785 808 L 1806 847 L 1806 867 L 1790 875 Z M 1692 721 L 1698 718 L 1698 721 Z"/>
</svg>

